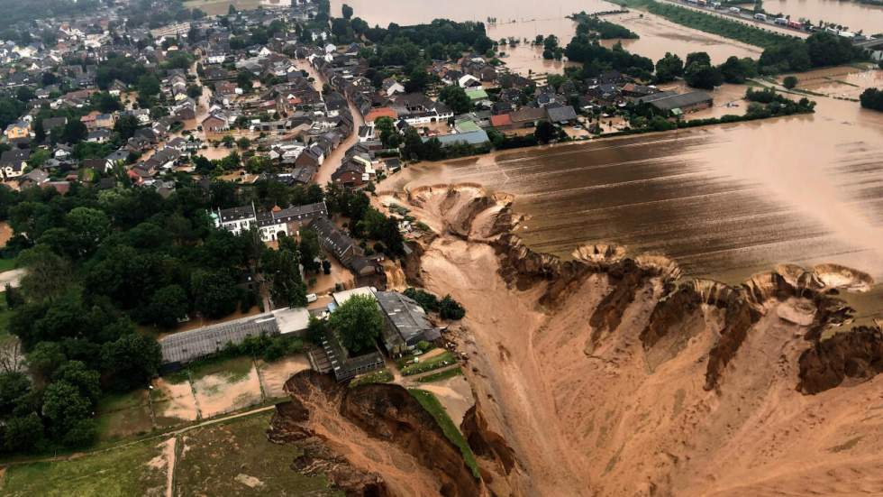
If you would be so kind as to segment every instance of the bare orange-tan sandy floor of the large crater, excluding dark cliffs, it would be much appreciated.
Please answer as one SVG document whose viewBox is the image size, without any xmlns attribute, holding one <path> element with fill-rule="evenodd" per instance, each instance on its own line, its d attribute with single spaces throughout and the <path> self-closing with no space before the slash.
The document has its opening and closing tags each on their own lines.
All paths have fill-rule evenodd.
<svg viewBox="0 0 883 497">
<path fill-rule="evenodd" d="M 464 370 L 488 424 L 514 449 L 515 494 L 883 493 L 883 377 L 796 390 L 810 346 L 810 327 L 798 323 L 812 320 L 812 305 L 761 299 L 733 345 L 722 335 L 734 333 L 729 311 L 699 302 L 675 331 L 646 342 L 660 277 L 638 280 L 630 294 L 589 272 L 557 289 L 554 308 L 542 306 L 550 282 L 507 283 L 495 248 L 480 241 L 491 224 L 462 211 L 476 205 L 475 191 L 414 194 L 415 216 L 444 226 L 420 277 L 468 310 L 449 338 L 469 355 Z M 454 235 L 464 219 L 478 228 Z M 699 288 L 718 292 L 708 299 L 733 291 L 714 285 Z M 599 324 L 599 312 L 614 326 Z M 706 390 L 710 354 L 729 355 Z"/>
</svg>

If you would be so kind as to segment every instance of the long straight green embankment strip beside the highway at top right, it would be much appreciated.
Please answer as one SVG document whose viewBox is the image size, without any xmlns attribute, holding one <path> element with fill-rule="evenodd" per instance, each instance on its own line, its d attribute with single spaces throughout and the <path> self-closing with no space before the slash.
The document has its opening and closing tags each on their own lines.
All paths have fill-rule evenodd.
<svg viewBox="0 0 883 497">
<path fill-rule="evenodd" d="M 624 7 L 645 10 L 651 14 L 659 15 L 672 23 L 687 26 L 701 32 L 717 34 L 731 40 L 742 41 L 742 43 L 763 49 L 776 46 L 782 41 L 791 38 L 784 34 L 762 30 L 750 24 L 737 23 L 723 17 L 697 12 L 696 10 L 678 7 L 677 5 L 661 4 L 655 0 L 614 0 L 614 3 Z"/>
</svg>

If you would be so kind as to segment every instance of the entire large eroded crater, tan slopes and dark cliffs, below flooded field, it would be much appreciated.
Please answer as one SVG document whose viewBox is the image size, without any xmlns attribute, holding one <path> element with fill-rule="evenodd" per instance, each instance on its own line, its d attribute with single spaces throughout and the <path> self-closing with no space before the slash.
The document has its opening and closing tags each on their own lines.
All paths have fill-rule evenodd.
<svg viewBox="0 0 883 497">
<path fill-rule="evenodd" d="M 836 297 L 866 275 L 678 281 L 664 257 L 605 245 L 562 261 L 501 230 L 511 213 L 481 196 L 389 199 L 438 233 L 408 273 L 467 308 L 449 338 L 481 416 L 463 429 L 511 494 L 883 495 L 883 338 L 848 330 Z M 479 424 L 499 438 L 470 435 Z"/>
</svg>

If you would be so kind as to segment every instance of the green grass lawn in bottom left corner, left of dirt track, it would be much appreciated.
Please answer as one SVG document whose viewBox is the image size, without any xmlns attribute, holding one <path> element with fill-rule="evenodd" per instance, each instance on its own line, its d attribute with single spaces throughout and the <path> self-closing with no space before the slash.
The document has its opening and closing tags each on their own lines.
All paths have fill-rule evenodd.
<svg viewBox="0 0 883 497">
<path fill-rule="evenodd" d="M 0 493 L 10 497 L 162 495 L 166 467 L 152 467 L 161 453 L 150 440 L 72 461 L 14 465 L 6 470 Z"/>
</svg>

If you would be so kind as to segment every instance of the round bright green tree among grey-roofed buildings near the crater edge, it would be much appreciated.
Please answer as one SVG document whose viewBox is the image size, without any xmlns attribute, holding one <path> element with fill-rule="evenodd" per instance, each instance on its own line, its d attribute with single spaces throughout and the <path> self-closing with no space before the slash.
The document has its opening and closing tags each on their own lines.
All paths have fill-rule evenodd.
<svg viewBox="0 0 883 497">
<path fill-rule="evenodd" d="M 328 325 L 351 354 L 359 354 L 375 345 L 383 332 L 384 318 L 373 297 L 354 295 L 332 313 Z"/>
</svg>

